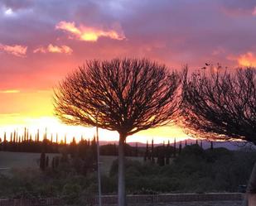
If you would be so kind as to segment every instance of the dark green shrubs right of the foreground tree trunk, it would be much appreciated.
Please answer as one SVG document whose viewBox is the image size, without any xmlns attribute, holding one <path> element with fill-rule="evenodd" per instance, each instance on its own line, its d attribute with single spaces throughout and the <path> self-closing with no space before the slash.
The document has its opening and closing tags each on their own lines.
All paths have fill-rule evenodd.
<svg viewBox="0 0 256 206">
<path fill-rule="evenodd" d="M 170 165 L 127 160 L 127 188 L 129 193 L 237 192 L 240 184 L 247 184 L 255 160 L 255 151 L 204 151 L 198 145 L 186 146 Z M 116 175 L 114 162 L 109 178 L 114 180 Z"/>
</svg>

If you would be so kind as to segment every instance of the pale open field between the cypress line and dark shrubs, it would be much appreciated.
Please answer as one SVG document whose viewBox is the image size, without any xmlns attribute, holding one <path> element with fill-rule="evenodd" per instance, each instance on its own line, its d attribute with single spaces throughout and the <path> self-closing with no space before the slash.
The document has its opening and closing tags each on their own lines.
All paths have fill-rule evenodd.
<svg viewBox="0 0 256 206">
<path fill-rule="evenodd" d="M 0 151 L 0 172 L 6 173 L 15 168 L 39 168 L 40 153 Z M 49 160 L 58 154 L 46 154 Z M 102 174 L 107 175 L 110 167 L 117 156 L 100 156 L 100 169 Z M 142 161 L 142 157 L 128 157 L 128 159 Z"/>
</svg>

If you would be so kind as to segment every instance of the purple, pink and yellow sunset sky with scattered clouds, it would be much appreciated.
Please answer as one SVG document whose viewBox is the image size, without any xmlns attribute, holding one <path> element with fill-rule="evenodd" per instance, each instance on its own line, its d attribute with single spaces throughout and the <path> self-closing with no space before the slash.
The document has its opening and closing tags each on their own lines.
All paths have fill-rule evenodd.
<svg viewBox="0 0 256 206">
<path fill-rule="evenodd" d="M 0 137 L 24 127 L 68 138 L 53 115 L 53 88 L 86 60 L 146 57 L 170 69 L 220 63 L 256 66 L 255 0 L 0 0 Z M 180 127 L 139 132 L 128 141 L 186 138 Z M 118 140 L 100 131 L 102 140 Z"/>
</svg>

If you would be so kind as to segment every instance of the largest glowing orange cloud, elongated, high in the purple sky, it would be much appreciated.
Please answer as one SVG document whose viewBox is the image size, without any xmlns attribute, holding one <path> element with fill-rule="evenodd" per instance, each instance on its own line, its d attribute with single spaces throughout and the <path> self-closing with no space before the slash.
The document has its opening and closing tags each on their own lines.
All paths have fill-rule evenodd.
<svg viewBox="0 0 256 206">
<path fill-rule="evenodd" d="M 125 36 L 123 31 L 115 30 L 102 30 L 95 27 L 89 27 L 81 25 L 79 27 L 75 26 L 75 22 L 59 22 L 56 25 L 56 29 L 68 31 L 71 33 L 71 38 L 75 37 L 80 41 L 98 41 L 99 37 L 105 36 L 114 40 L 123 40 Z"/>
</svg>

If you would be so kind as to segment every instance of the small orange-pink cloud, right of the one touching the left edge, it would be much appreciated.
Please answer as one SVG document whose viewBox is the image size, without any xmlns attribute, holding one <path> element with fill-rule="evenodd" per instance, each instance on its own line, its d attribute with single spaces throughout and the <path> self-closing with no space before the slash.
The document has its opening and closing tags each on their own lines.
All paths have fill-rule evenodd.
<svg viewBox="0 0 256 206">
<path fill-rule="evenodd" d="M 33 50 L 34 53 L 64 53 L 67 55 L 72 54 L 73 50 L 70 48 L 70 46 L 53 46 L 52 44 L 48 45 L 47 47 L 40 46 L 36 48 L 36 50 Z"/>
</svg>

